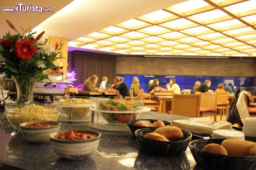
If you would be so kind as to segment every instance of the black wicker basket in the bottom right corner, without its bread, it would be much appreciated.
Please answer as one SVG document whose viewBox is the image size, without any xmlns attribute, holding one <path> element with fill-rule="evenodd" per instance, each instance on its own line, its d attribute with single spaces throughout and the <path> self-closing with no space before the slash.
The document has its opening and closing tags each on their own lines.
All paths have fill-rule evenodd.
<svg viewBox="0 0 256 170">
<path fill-rule="evenodd" d="M 225 139 L 200 139 L 190 142 L 189 147 L 196 163 L 207 170 L 255 170 L 256 155 L 226 156 L 204 152 L 203 148 L 209 143 L 221 144 Z"/>
</svg>

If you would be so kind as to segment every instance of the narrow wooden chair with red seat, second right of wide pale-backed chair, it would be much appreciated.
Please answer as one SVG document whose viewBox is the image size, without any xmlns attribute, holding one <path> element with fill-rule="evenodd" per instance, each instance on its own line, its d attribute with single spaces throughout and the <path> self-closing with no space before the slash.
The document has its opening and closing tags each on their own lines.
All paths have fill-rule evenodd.
<svg viewBox="0 0 256 170">
<path fill-rule="evenodd" d="M 220 120 L 222 120 L 222 114 L 226 113 L 226 119 L 228 119 L 228 93 L 227 92 L 214 92 L 218 96 L 217 100 L 217 110 L 220 110 Z"/>
</svg>

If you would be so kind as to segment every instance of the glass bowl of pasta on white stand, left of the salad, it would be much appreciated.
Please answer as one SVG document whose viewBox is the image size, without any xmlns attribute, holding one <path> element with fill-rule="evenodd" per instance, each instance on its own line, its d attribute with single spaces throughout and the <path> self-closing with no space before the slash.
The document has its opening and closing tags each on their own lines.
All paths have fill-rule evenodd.
<svg viewBox="0 0 256 170">
<path fill-rule="evenodd" d="M 58 97 L 58 104 L 63 106 L 63 113 L 72 119 L 85 119 L 91 117 L 89 107 L 95 105 L 96 97 L 64 96 Z M 71 114 L 71 115 L 70 115 Z"/>
</svg>

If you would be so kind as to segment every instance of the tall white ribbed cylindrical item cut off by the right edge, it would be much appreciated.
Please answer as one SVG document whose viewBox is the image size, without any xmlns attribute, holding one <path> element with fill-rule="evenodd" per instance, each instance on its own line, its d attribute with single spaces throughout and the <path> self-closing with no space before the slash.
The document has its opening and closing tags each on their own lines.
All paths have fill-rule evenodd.
<svg viewBox="0 0 256 170">
<path fill-rule="evenodd" d="M 256 138 L 256 118 L 245 118 L 245 124 L 243 126 L 242 132 L 247 137 L 255 137 Z"/>
</svg>

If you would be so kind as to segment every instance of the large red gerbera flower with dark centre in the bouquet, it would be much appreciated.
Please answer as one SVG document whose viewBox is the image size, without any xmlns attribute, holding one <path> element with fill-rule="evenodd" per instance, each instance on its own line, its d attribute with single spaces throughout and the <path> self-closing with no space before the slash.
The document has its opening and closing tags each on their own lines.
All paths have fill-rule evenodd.
<svg viewBox="0 0 256 170">
<path fill-rule="evenodd" d="M 28 40 L 17 42 L 15 48 L 17 56 L 22 60 L 30 60 L 36 51 L 36 49 L 33 47 L 33 44 Z"/>
</svg>

